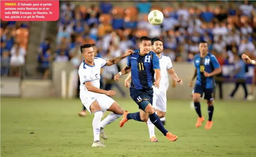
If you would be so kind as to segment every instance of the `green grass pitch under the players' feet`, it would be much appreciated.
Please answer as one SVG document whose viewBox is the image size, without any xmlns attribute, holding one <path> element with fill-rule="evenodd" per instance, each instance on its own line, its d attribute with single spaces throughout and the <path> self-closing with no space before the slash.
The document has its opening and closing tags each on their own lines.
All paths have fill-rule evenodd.
<svg viewBox="0 0 256 157">
<path fill-rule="evenodd" d="M 137 112 L 131 99 L 116 99 Z M 179 138 L 168 141 L 156 128 L 149 142 L 145 123 L 119 120 L 107 125 L 106 148 L 92 148 L 93 115 L 78 117 L 80 100 L 1 98 L 1 157 L 255 157 L 256 103 L 215 101 L 211 130 L 195 128 L 189 100 L 168 100 L 166 128 Z M 201 102 L 207 119 L 206 102 Z M 107 112 L 108 113 L 108 112 Z M 105 116 L 106 117 L 106 114 Z M 103 118 L 104 118 L 103 117 Z"/>
</svg>

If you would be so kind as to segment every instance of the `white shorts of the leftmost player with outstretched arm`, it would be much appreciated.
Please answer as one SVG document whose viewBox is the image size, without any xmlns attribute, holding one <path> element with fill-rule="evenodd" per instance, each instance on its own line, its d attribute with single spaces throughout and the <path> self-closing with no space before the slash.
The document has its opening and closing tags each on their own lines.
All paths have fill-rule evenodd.
<svg viewBox="0 0 256 157">
<path fill-rule="evenodd" d="M 109 107 L 115 102 L 112 98 L 110 98 L 107 95 L 99 94 L 99 93 L 93 93 L 93 92 L 84 92 L 80 93 L 80 99 L 83 104 L 83 106 L 86 107 L 86 109 L 91 113 L 90 106 L 91 104 L 96 100 L 101 107 L 102 112 L 106 112 Z"/>
</svg>

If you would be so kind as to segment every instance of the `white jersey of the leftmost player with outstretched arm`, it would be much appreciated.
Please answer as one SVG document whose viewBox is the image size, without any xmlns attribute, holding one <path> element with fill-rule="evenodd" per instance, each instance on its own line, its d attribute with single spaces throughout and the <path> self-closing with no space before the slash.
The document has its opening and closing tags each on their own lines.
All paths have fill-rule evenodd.
<svg viewBox="0 0 256 157">
<path fill-rule="evenodd" d="M 78 69 L 78 75 L 80 79 L 80 91 L 88 92 L 85 87 L 85 82 L 91 81 L 92 85 L 99 88 L 100 70 L 101 67 L 105 66 L 106 60 L 95 57 L 94 65 L 89 66 L 85 62 L 82 62 Z"/>
</svg>

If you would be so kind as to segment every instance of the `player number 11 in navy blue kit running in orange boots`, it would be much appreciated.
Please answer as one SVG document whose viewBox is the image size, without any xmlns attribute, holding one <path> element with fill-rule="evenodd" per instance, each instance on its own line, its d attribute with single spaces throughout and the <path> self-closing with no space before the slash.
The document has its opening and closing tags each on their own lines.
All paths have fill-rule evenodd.
<svg viewBox="0 0 256 157">
<path fill-rule="evenodd" d="M 131 71 L 132 81 L 130 87 L 130 96 L 139 106 L 140 111 L 135 113 L 124 112 L 123 118 L 120 121 L 120 127 L 124 126 L 129 119 L 139 122 L 150 121 L 166 136 L 170 141 L 176 141 L 176 135 L 168 132 L 161 123 L 161 120 L 155 113 L 152 106 L 153 88 L 159 88 L 161 79 L 159 59 L 157 54 L 151 50 L 150 38 L 143 36 L 139 41 L 139 50 L 135 50 L 133 54 L 128 56 L 127 66 L 115 75 L 114 79 L 119 80 L 121 75 L 128 74 Z M 155 79 L 154 79 L 154 75 Z"/>
</svg>

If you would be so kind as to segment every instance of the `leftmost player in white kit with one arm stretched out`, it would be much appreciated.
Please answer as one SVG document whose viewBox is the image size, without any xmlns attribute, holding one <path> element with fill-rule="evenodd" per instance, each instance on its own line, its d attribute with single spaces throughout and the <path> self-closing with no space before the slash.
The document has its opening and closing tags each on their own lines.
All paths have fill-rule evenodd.
<svg viewBox="0 0 256 157">
<path fill-rule="evenodd" d="M 133 51 L 127 51 L 126 54 L 117 58 L 104 60 L 94 57 L 94 51 L 91 44 L 80 46 L 84 61 L 81 63 L 78 74 L 80 78 L 80 99 L 82 104 L 91 113 L 93 118 L 94 142 L 92 147 L 105 147 L 100 141 L 99 136 L 107 139 L 103 128 L 117 120 L 124 113 L 124 110 L 109 96 L 116 95 L 113 90 L 99 89 L 100 71 L 103 66 L 111 66 L 118 63 L 123 58 L 129 56 Z M 104 120 L 101 121 L 103 112 L 111 111 Z"/>
</svg>

